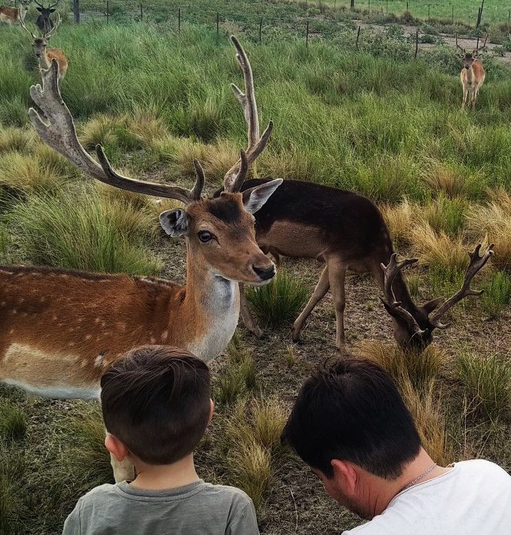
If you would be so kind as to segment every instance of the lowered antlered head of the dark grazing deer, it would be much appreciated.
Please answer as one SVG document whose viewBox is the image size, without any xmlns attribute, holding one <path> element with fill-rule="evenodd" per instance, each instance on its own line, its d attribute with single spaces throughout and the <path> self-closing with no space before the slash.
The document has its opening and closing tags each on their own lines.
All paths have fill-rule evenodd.
<svg viewBox="0 0 511 535">
<path fill-rule="evenodd" d="M 397 254 L 391 255 L 390 262 L 385 266 L 381 264 L 384 273 L 384 292 L 385 298 L 382 299 L 383 305 L 389 315 L 394 319 L 394 338 L 402 349 L 412 349 L 418 352 L 427 348 L 433 340 L 433 330 L 445 329 L 449 323 L 442 323 L 440 320 L 458 301 L 461 301 L 469 295 L 481 295 L 483 291 L 475 291 L 470 288 L 470 282 L 474 275 L 483 268 L 483 266 L 490 260 L 493 254 L 493 244 L 486 249 L 486 252 L 481 256 L 479 251 L 481 244 L 471 252 L 468 253 L 470 263 L 466 269 L 464 282 L 462 288 L 459 289 L 449 299 L 440 297 L 427 301 L 423 305 L 417 306 L 412 303 L 412 310 L 407 310 L 400 301 L 396 300 L 392 284 L 396 279 L 396 275 L 405 267 L 415 264 L 417 258 L 409 258 L 405 260 L 397 260 Z M 435 309 L 437 309 L 433 312 Z"/>
</svg>

